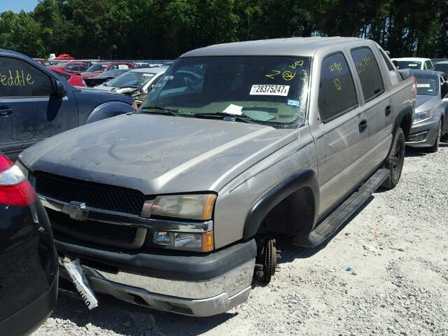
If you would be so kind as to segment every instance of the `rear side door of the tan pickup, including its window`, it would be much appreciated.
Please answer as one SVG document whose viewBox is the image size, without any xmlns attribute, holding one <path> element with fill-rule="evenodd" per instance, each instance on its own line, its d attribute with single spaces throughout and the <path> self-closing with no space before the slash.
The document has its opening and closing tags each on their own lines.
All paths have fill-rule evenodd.
<svg viewBox="0 0 448 336">
<path fill-rule="evenodd" d="M 371 152 L 366 160 L 371 169 L 378 165 L 378 155 L 383 154 L 381 143 L 390 133 L 388 124 L 393 123 L 391 99 L 386 94 L 384 79 L 379 71 L 379 65 L 372 49 L 367 46 L 350 50 L 356 66 L 356 76 L 361 86 L 361 100 L 367 120 L 368 143 L 367 151 Z M 382 62 L 382 60 L 381 60 Z"/>
</svg>

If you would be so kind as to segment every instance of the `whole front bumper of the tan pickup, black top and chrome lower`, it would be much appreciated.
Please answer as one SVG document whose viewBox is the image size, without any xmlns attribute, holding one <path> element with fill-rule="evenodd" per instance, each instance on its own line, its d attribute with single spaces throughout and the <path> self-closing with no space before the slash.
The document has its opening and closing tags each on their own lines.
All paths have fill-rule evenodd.
<svg viewBox="0 0 448 336">
<path fill-rule="evenodd" d="M 137 258 L 145 260 L 137 262 L 141 266 L 137 268 L 125 255 L 116 262 L 102 260 L 115 271 L 102 267 L 94 253 L 87 252 L 87 256 L 85 250 L 76 253 L 70 248 L 73 246 L 56 245 L 68 258 L 80 259 L 94 292 L 161 311 L 212 316 L 246 302 L 251 291 L 256 254 L 253 240 L 205 256 L 145 255 Z M 182 258 L 191 258 L 190 267 L 179 272 Z M 69 279 L 63 267 L 60 275 Z"/>
</svg>

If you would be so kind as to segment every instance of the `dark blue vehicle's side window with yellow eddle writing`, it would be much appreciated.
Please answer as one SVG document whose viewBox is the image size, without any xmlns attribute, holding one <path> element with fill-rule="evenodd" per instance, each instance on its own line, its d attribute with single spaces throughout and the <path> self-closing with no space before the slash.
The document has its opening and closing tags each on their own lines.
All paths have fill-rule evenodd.
<svg viewBox="0 0 448 336">
<path fill-rule="evenodd" d="M 0 57 L 0 97 L 41 97 L 52 92 L 46 73 L 21 59 Z"/>
</svg>

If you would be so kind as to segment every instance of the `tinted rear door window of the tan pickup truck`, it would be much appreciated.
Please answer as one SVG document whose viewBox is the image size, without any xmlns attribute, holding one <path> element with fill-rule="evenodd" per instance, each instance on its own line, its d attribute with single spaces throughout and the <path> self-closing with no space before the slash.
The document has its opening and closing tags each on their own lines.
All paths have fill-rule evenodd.
<svg viewBox="0 0 448 336">
<path fill-rule="evenodd" d="M 384 92 L 383 79 L 372 50 L 370 48 L 353 49 L 351 50 L 351 57 L 353 57 L 356 65 L 365 102 L 382 94 Z"/>
</svg>

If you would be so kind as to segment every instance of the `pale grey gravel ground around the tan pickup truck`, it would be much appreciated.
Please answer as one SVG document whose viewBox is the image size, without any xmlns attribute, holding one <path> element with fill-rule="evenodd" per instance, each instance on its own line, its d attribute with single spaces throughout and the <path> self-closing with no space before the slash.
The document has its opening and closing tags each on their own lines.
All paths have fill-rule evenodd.
<svg viewBox="0 0 448 336">
<path fill-rule="evenodd" d="M 324 246 L 281 244 L 281 271 L 226 314 L 191 318 L 106 296 L 88 311 L 60 292 L 33 335 L 448 335 L 448 144 L 441 146 L 408 150 L 397 188 L 375 193 Z"/>
</svg>

